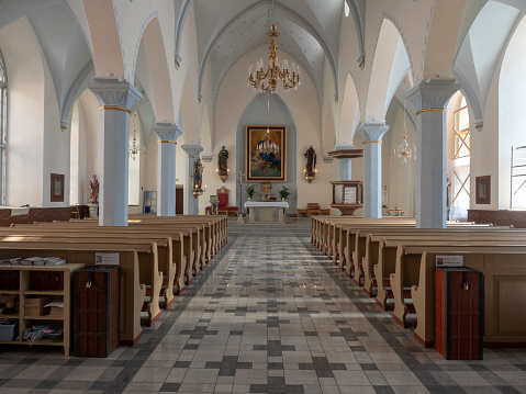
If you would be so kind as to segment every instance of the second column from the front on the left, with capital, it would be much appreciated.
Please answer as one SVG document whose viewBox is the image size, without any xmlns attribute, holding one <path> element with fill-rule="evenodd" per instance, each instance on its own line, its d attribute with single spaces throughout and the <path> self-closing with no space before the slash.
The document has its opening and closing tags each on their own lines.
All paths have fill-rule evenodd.
<svg viewBox="0 0 526 394">
<path fill-rule="evenodd" d="M 176 216 L 176 145 L 182 134 L 177 124 L 156 123 L 157 136 L 157 216 Z"/>
</svg>

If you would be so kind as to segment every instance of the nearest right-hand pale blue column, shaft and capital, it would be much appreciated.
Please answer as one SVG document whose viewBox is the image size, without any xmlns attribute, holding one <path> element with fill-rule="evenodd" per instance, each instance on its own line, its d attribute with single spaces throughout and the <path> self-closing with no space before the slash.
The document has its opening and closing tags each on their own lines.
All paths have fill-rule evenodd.
<svg viewBox="0 0 526 394">
<path fill-rule="evenodd" d="M 407 93 L 416 109 L 416 227 L 446 228 L 446 112 L 455 79 L 421 82 Z"/>
</svg>

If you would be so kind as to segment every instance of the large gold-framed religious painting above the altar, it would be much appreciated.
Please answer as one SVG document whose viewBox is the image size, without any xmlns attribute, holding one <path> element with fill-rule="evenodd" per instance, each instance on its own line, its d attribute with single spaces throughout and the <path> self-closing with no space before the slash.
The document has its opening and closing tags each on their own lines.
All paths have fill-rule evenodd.
<svg viewBox="0 0 526 394">
<path fill-rule="evenodd" d="M 246 126 L 247 182 L 287 182 L 287 126 Z"/>
</svg>

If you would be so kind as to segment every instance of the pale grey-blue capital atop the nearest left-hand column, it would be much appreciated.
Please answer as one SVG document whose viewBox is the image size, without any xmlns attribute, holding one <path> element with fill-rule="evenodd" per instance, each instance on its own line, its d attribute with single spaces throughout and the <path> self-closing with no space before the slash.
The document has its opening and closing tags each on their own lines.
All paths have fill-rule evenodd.
<svg viewBox="0 0 526 394">
<path fill-rule="evenodd" d="M 132 106 L 143 98 L 143 94 L 125 79 L 113 77 L 94 77 L 88 86 L 93 92 L 101 110 L 124 111 L 131 113 Z"/>
</svg>

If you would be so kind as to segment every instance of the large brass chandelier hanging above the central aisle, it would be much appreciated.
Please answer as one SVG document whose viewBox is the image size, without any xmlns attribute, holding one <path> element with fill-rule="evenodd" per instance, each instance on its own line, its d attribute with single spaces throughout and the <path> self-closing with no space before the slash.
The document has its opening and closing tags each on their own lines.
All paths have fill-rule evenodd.
<svg viewBox="0 0 526 394">
<path fill-rule="evenodd" d="M 280 33 L 276 29 L 276 24 L 272 24 L 268 36 L 270 37 L 269 42 L 269 59 L 268 68 L 264 70 L 264 59 L 262 57 L 258 60 L 256 66 L 256 71 L 253 74 L 253 66 L 248 69 L 248 83 L 247 87 L 253 87 L 254 90 L 265 91 L 271 89 L 272 93 L 276 92 L 276 87 L 278 86 L 278 79 L 283 82 L 283 89 L 287 92 L 289 89 L 296 89 L 301 86 L 300 81 L 300 67 L 295 66 L 292 63 L 292 72 L 289 71 L 289 61 L 283 60 L 281 68 L 279 67 L 278 59 L 278 44 L 276 38 L 279 37 Z"/>
</svg>

